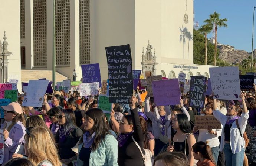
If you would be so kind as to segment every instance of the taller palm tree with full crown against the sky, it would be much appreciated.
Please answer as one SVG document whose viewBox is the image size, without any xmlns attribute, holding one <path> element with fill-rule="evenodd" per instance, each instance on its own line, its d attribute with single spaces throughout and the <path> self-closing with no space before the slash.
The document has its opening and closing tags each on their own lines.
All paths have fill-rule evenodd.
<svg viewBox="0 0 256 166">
<path fill-rule="evenodd" d="M 216 65 L 216 57 L 217 57 L 217 30 L 218 27 L 227 27 L 227 18 L 220 19 L 220 14 L 214 11 L 213 14 L 209 15 L 209 19 L 204 20 L 205 23 L 210 24 L 211 27 L 215 28 L 215 52 L 214 52 L 214 65 Z"/>
</svg>

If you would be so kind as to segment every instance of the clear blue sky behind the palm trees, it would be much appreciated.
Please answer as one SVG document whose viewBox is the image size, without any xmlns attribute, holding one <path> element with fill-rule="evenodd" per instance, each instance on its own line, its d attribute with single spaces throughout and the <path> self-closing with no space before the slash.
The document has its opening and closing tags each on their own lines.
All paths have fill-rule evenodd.
<svg viewBox="0 0 256 166">
<path fill-rule="evenodd" d="M 195 21 L 199 27 L 214 11 L 220 18 L 227 18 L 227 28 L 217 31 L 217 42 L 234 46 L 235 49 L 252 52 L 253 7 L 256 0 L 194 0 Z M 208 35 L 208 38 L 212 33 Z M 254 17 L 253 49 L 256 49 L 256 8 Z"/>
</svg>

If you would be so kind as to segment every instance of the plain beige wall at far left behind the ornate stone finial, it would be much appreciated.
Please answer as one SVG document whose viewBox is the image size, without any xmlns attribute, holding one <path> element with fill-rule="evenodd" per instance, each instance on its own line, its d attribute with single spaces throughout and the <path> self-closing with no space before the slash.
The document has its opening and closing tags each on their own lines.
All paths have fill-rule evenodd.
<svg viewBox="0 0 256 166">
<path fill-rule="evenodd" d="M 20 80 L 20 3 L 19 1 L 0 0 L 0 40 L 3 42 L 4 30 L 8 51 L 12 54 L 8 57 L 9 76 L 17 76 Z M 8 81 L 8 80 L 7 80 Z M 21 92 L 21 83 L 18 83 Z"/>
</svg>

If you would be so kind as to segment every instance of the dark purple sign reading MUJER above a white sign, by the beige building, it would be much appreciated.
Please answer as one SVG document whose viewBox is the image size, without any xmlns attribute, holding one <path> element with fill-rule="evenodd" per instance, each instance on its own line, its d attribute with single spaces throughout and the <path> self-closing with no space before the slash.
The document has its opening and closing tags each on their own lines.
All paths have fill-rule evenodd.
<svg viewBox="0 0 256 166">
<path fill-rule="evenodd" d="M 83 83 L 99 82 L 101 87 L 101 72 L 99 70 L 99 63 L 81 65 Z"/>
</svg>

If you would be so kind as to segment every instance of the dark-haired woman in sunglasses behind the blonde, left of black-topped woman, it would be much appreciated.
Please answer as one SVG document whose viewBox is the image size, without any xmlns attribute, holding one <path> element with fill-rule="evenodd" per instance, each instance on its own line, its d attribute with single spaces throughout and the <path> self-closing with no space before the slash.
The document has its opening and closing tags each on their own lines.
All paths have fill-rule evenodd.
<svg viewBox="0 0 256 166">
<path fill-rule="evenodd" d="M 58 107 L 52 107 L 48 112 L 47 116 L 49 117 L 49 120 L 52 122 L 50 124 L 50 131 L 52 132 L 53 136 L 56 135 L 57 131 L 59 130 L 59 123 L 58 123 L 58 115 L 60 113 L 60 109 Z"/>
</svg>

